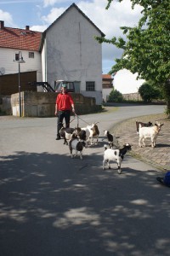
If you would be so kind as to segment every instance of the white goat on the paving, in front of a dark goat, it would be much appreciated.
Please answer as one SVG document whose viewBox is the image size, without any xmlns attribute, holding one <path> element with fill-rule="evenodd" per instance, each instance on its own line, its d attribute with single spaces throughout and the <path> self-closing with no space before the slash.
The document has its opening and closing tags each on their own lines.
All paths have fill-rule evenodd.
<svg viewBox="0 0 170 256">
<path fill-rule="evenodd" d="M 161 126 L 163 124 L 156 122 L 155 125 L 151 127 L 139 127 L 139 147 L 142 147 L 141 142 L 144 143 L 145 138 L 150 138 L 151 139 L 151 147 L 155 148 L 156 147 L 156 138 L 161 131 Z"/>
</svg>

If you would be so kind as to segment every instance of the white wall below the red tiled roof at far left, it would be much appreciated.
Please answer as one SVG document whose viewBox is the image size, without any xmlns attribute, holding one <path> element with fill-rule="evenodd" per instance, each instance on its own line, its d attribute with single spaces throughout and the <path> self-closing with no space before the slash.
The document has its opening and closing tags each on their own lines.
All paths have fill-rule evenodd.
<svg viewBox="0 0 170 256">
<path fill-rule="evenodd" d="M 5 74 L 18 73 L 18 62 L 14 62 L 15 54 L 20 49 L 0 48 L 0 68 L 5 68 Z M 37 81 L 42 81 L 42 60 L 41 54 L 34 51 L 34 58 L 29 58 L 28 53 L 32 50 L 21 50 L 22 56 L 26 63 L 20 64 L 20 73 L 28 71 L 37 71 Z"/>
</svg>

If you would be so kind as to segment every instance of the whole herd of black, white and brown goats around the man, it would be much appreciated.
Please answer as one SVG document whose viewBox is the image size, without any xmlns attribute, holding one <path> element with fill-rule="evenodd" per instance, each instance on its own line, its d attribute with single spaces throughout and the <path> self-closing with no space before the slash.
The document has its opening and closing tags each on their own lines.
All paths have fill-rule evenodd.
<svg viewBox="0 0 170 256">
<path fill-rule="evenodd" d="M 151 122 L 144 123 L 136 121 L 137 134 L 139 134 L 139 147 L 145 146 L 144 139 L 150 138 L 151 147 L 156 147 L 156 138 L 161 131 L 160 122 L 156 121 L 155 125 Z M 107 137 L 108 146 L 105 144 L 105 152 L 103 159 L 103 170 L 105 170 L 105 164 L 111 169 L 110 161 L 116 161 L 118 166 L 118 173 L 121 174 L 121 163 L 127 150 L 131 150 L 131 145 L 129 143 L 123 145 L 122 148 L 117 148 L 114 144 L 114 136 L 110 131 L 104 131 L 105 137 Z M 59 131 L 59 135 L 64 139 L 64 144 L 69 146 L 71 158 L 74 157 L 73 150 L 75 154 L 80 153 L 80 159 L 82 160 L 82 149 L 88 147 L 88 143 L 93 144 L 94 138 L 96 143 L 99 140 L 99 128 L 97 123 L 92 125 L 87 125 L 86 127 L 80 128 L 65 128 L 62 127 Z M 141 144 L 142 143 L 142 144 Z"/>
</svg>

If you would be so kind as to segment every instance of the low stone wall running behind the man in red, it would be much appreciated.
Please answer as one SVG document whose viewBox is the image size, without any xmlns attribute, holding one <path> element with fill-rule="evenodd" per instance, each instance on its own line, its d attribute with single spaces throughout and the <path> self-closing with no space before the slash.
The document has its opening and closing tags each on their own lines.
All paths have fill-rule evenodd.
<svg viewBox="0 0 170 256">
<path fill-rule="evenodd" d="M 50 117 L 54 116 L 55 100 L 58 93 L 54 92 L 33 92 L 22 91 L 21 115 L 22 117 Z M 96 105 L 94 97 L 85 97 L 81 94 L 72 93 L 77 114 L 93 113 L 102 107 Z M 20 116 L 20 97 L 19 93 L 13 94 L 8 102 L 8 114 Z M 5 102 L 5 100 L 4 100 Z M 4 106 L 2 107 L 2 110 Z"/>
</svg>

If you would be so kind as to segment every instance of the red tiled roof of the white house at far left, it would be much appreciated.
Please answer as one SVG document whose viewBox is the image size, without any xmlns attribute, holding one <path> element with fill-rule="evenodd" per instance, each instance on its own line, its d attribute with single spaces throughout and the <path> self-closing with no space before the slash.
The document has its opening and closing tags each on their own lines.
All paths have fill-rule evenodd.
<svg viewBox="0 0 170 256">
<path fill-rule="evenodd" d="M 3 26 L 0 29 L 0 47 L 39 51 L 42 32 Z"/>
</svg>

